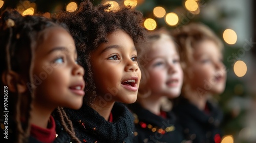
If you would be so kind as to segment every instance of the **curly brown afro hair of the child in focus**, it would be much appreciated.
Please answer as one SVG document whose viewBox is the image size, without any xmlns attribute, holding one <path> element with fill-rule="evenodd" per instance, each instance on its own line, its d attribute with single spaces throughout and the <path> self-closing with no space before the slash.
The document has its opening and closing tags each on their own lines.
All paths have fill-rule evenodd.
<svg viewBox="0 0 256 143">
<path fill-rule="evenodd" d="M 96 97 L 90 53 L 101 43 L 108 42 L 107 36 L 119 29 L 129 34 L 135 44 L 145 37 L 141 12 L 124 6 L 117 11 L 111 11 L 110 6 L 93 6 L 90 0 L 86 0 L 81 2 L 78 10 L 73 13 L 63 11 L 55 15 L 56 19 L 68 25 L 75 40 L 79 64 L 85 70 L 86 95 L 89 97 L 86 97 L 84 102 L 88 105 Z"/>
</svg>

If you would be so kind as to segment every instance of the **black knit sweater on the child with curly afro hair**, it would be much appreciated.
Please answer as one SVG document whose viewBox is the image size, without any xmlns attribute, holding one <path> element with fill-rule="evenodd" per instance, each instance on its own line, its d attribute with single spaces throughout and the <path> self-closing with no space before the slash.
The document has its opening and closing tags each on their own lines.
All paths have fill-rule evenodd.
<svg viewBox="0 0 256 143">
<path fill-rule="evenodd" d="M 87 105 L 82 105 L 79 110 L 65 110 L 73 123 L 76 136 L 82 142 L 132 142 L 134 118 L 121 103 L 116 102 L 113 106 L 112 123 Z"/>
</svg>

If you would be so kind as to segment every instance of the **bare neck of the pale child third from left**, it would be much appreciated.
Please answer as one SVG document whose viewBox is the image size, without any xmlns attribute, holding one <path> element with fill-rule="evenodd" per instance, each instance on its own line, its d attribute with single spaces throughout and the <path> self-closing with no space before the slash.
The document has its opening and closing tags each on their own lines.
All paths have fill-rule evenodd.
<svg viewBox="0 0 256 143">
<path fill-rule="evenodd" d="M 161 99 L 164 97 L 160 97 L 157 95 L 151 95 L 147 98 L 143 98 L 139 100 L 140 105 L 147 109 L 148 111 L 151 111 L 152 113 L 159 115 L 160 109 L 161 109 Z"/>
</svg>

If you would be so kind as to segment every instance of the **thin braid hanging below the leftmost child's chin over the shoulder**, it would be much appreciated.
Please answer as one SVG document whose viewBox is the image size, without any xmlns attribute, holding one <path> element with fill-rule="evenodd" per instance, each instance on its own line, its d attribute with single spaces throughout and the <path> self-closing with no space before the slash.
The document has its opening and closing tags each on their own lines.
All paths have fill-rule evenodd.
<svg viewBox="0 0 256 143">
<path fill-rule="evenodd" d="M 63 107 L 58 107 L 57 112 L 58 112 L 59 117 L 60 117 L 61 125 L 63 126 L 65 131 L 67 131 L 67 133 L 71 136 L 73 141 L 81 143 L 81 141 L 76 137 L 75 132 L 74 132 L 74 128 L 73 128 L 73 124 L 69 120 L 66 112 L 63 110 Z M 65 121 L 69 123 L 69 127 L 70 127 L 71 130 L 68 128 L 68 125 Z"/>
</svg>

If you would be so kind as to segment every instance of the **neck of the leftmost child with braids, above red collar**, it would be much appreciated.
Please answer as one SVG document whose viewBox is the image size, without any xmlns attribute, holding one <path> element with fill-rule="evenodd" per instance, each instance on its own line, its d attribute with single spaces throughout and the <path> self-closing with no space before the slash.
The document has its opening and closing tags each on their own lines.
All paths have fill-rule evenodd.
<svg viewBox="0 0 256 143">
<path fill-rule="evenodd" d="M 37 105 L 34 105 L 31 111 L 31 124 L 46 129 L 53 110 L 54 109 L 50 110 L 47 108 L 40 108 Z"/>
</svg>

